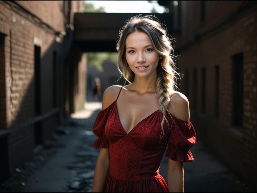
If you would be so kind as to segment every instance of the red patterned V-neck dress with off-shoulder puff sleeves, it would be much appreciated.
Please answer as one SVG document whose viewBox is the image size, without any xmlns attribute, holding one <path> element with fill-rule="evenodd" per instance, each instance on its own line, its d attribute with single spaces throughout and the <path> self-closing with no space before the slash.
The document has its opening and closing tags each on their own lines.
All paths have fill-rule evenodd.
<svg viewBox="0 0 257 193">
<path fill-rule="evenodd" d="M 93 147 L 109 147 L 110 168 L 104 192 L 168 192 L 159 174 L 162 155 L 168 145 L 166 157 L 193 161 L 189 148 L 196 142 L 194 127 L 189 121 L 170 114 L 171 118 L 166 113 L 171 129 L 169 132 L 164 129 L 167 137 L 163 136 L 160 141 L 163 114 L 156 110 L 126 133 L 118 116 L 117 99 L 98 113 L 93 126 L 98 136 Z"/>
</svg>

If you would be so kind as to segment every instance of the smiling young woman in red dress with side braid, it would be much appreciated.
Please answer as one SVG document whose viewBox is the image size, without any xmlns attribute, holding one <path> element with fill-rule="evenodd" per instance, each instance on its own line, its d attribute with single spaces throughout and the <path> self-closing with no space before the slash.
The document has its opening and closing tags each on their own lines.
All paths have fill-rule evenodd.
<svg viewBox="0 0 257 193">
<path fill-rule="evenodd" d="M 93 126 L 100 148 L 93 192 L 184 191 L 196 134 L 188 100 L 175 91 L 171 40 L 153 16 L 131 17 L 120 31 L 118 70 L 130 84 L 104 92 Z M 166 147 L 168 186 L 159 174 Z"/>
</svg>

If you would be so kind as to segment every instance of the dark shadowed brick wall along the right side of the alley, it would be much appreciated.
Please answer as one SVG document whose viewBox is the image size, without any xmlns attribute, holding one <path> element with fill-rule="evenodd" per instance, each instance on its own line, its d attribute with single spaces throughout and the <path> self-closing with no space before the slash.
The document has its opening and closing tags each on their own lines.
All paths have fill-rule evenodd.
<svg viewBox="0 0 257 193">
<path fill-rule="evenodd" d="M 192 2 L 191 2 L 192 3 Z M 197 2 L 196 2 L 197 3 Z M 216 5 L 215 5 L 216 3 Z M 206 21 L 200 31 L 185 30 L 197 33 L 204 32 L 238 9 L 242 2 L 209 2 L 206 8 Z M 212 4 L 212 7 L 210 7 Z M 231 6 L 230 6 L 231 5 Z M 217 29 L 202 35 L 199 40 L 185 42 L 186 47 L 177 43 L 181 55 L 177 60 L 180 73 L 189 71 L 190 121 L 196 129 L 196 134 L 208 145 L 217 157 L 244 179 L 256 181 L 256 121 L 257 121 L 257 5 L 249 6 L 238 12 L 233 19 L 220 25 Z M 185 9 L 186 10 L 186 9 Z M 194 9 L 189 9 L 197 13 Z M 218 13 L 214 17 L 214 13 Z M 190 13 L 187 13 L 190 15 Z M 186 17 L 185 17 L 186 18 Z M 192 20 L 191 20 L 192 21 Z M 184 21 L 189 23 L 189 21 Z M 194 23 L 194 22 L 192 22 Z M 197 23 L 197 22 L 196 22 Z M 191 34 L 192 34 L 191 33 Z M 182 34 L 186 34 L 182 33 Z M 189 34 L 190 36 L 190 34 Z M 180 37 L 183 39 L 183 37 Z M 189 44 L 190 43 L 190 44 Z M 242 136 L 231 130 L 233 116 L 233 72 L 232 56 L 243 53 L 243 130 Z M 215 66 L 219 66 L 219 118 L 215 117 Z M 206 108 L 201 113 L 201 69 L 206 68 Z M 198 72 L 197 106 L 192 109 L 194 94 L 193 69 Z M 185 92 L 185 78 L 181 80 L 180 90 Z"/>
</svg>

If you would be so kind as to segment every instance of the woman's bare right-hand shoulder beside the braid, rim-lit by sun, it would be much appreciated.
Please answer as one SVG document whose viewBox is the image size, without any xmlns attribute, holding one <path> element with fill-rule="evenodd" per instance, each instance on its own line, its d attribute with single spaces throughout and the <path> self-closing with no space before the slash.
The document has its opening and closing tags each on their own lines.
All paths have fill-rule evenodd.
<svg viewBox="0 0 257 193">
<path fill-rule="evenodd" d="M 189 102 L 187 97 L 181 92 L 175 91 L 170 98 L 170 113 L 181 120 L 189 121 Z"/>
</svg>

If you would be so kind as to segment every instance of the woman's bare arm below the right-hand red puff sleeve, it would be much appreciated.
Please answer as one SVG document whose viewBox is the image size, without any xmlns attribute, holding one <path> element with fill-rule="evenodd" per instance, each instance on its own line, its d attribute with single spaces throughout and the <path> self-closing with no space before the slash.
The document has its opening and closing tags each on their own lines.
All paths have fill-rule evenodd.
<svg viewBox="0 0 257 193">
<path fill-rule="evenodd" d="M 169 192 L 184 192 L 183 162 L 168 158 L 167 179 Z"/>
</svg>

